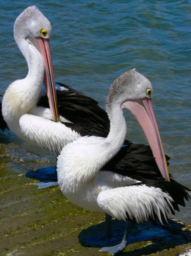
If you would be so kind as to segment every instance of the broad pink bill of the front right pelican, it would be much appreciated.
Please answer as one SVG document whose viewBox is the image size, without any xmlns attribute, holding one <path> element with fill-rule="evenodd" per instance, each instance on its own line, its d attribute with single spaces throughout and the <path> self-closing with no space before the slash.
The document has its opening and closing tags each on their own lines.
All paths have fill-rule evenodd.
<svg viewBox="0 0 191 256">
<path fill-rule="evenodd" d="M 162 177 L 164 177 L 166 181 L 170 181 L 166 157 L 162 141 L 160 139 L 151 99 L 143 98 L 125 101 L 121 107 L 122 109 L 125 108 L 129 110 L 137 119 L 144 131 L 144 134 L 146 135 Z"/>
</svg>

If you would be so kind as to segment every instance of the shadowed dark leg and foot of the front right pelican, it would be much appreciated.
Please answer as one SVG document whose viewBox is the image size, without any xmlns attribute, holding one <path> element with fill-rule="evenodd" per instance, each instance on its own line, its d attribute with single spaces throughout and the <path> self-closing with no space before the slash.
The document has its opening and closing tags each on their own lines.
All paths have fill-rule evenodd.
<svg viewBox="0 0 191 256">
<path fill-rule="evenodd" d="M 89 236 L 81 238 L 86 242 L 86 246 L 115 246 L 121 242 L 121 235 L 115 235 L 111 232 L 112 217 L 105 213 L 104 233 L 102 236 Z"/>
</svg>

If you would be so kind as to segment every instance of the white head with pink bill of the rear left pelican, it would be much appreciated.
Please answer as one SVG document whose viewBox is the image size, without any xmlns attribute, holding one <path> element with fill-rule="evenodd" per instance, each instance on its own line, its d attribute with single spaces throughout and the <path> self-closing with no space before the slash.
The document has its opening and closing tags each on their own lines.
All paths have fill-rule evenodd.
<svg viewBox="0 0 191 256">
<path fill-rule="evenodd" d="M 55 89 L 55 78 L 51 59 L 49 39 L 52 28 L 49 20 L 39 11 L 36 6 L 26 8 L 16 19 L 14 24 L 14 38 L 27 60 L 29 66 L 28 75 L 34 76 L 35 56 L 43 57 L 44 65 L 39 65 L 38 69 L 44 72 L 44 84 L 49 98 L 49 104 L 53 117 L 59 121 L 57 96 Z M 37 52 L 37 51 L 38 52 Z M 44 69 L 44 70 L 43 70 Z"/>
</svg>

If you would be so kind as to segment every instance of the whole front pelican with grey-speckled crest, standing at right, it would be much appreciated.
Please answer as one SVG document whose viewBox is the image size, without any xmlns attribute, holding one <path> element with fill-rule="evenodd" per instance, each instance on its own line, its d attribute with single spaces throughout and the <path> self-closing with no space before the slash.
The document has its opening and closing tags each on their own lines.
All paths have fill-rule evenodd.
<svg viewBox="0 0 191 256">
<path fill-rule="evenodd" d="M 135 69 L 123 73 L 107 95 L 110 120 L 107 138 L 80 137 L 66 145 L 58 156 L 58 184 L 68 200 L 91 211 L 105 212 L 110 220 L 112 216 L 126 221 L 123 239 L 111 245 L 110 220 L 106 219 L 101 252 L 117 255 L 125 249 L 130 220 L 140 223 L 157 217 L 160 222 L 168 221 L 170 214 L 179 210 L 178 204 L 185 206 L 184 199 L 189 199 L 185 191 L 189 189 L 170 181 L 151 97 L 152 85 L 146 77 Z M 123 171 L 118 163 L 109 163 L 125 140 L 123 109 L 130 111 L 140 123 L 159 170 L 129 170 L 125 163 L 132 157 L 131 152 L 123 159 Z M 91 245 L 90 238 L 84 241 Z"/>
</svg>

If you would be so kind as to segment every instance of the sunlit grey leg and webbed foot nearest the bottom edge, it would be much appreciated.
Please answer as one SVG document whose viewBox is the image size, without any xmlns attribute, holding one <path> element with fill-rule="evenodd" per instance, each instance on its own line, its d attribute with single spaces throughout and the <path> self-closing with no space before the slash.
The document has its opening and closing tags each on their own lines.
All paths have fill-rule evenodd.
<svg viewBox="0 0 191 256">
<path fill-rule="evenodd" d="M 117 244 L 115 246 L 103 247 L 103 248 L 101 248 L 101 250 L 99 250 L 99 252 L 109 252 L 112 255 L 117 255 L 120 252 L 122 252 L 127 246 L 127 236 L 128 236 L 128 230 L 129 230 L 129 223 L 130 223 L 129 220 L 127 220 L 126 226 L 125 226 L 125 234 L 124 234 L 123 239 L 121 240 L 120 244 Z"/>
</svg>

